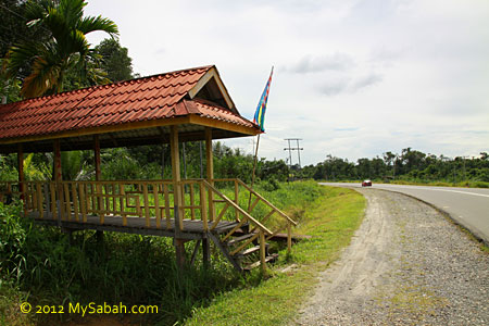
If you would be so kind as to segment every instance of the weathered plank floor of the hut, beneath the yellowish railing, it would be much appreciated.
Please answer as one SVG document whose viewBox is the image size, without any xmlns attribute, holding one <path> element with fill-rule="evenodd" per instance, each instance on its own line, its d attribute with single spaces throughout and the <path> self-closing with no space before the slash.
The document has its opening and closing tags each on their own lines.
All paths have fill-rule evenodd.
<svg viewBox="0 0 489 326">
<path fill-rule="evenodd" d="M 48 224 L 52 226 L 59 226 L 68 230 L 102 230 L 102 231 L 117 231 L 126 234 L 137 234 L 145 236 L 160 236 L 160 237 L 173 237 L 179 239 L 202 239 L 206 237 L 206 230 L 204 224 L 199 220 L 184 220 L 184 230 L 175 229 L 175 220 L 170 220 L 170 227 L 166 227 L 166 221 L 161 227 L 156 227 L 156 218 L 150 217 L 149 226 L 147 226 L 146 218 L 127 216 L 127 225 L 123 225 L 122 216 L 105 216 L 103 224 L 100 223 L 100 217 L 95 215 L 87 215 L 87 222 L 77 222 L 75 218 L 72 221 L 59 221 L 53 220 L 52 216 L 47 218 L 39 218 L 37 212 L 29 213 L 29 217 L 33 217 L 37 223 Z M 217 226 L 212 230 L 213 234 L 223 234 L 233 229 L 238 223 L 229 221 L 221 221 Z"/>
</svg>

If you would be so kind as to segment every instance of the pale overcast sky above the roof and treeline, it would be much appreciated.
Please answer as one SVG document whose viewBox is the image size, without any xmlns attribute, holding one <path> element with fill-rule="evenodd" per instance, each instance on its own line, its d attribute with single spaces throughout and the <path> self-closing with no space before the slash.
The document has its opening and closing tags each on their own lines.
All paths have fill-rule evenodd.
<svg viewBox="0 0 489 326">
<path fill-rule="evenodd" d="M 87 1 L 117 24 L 136 73 L 215 64 L 249 120 L 274 66 L 261 158 L 288 160 L 286 138 L 301 139 L 302 166 L 489 152 L 487 0 Z M 253 139 L 225 143 L 251 153 Z"/>
</svg>

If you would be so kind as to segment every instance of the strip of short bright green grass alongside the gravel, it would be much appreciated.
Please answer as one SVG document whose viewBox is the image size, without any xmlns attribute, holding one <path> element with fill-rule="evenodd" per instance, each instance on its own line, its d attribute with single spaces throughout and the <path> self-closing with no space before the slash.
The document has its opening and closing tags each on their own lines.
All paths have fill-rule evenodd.
<svg viewBox="0 0 489 326">
<path fill-rule="evenodd" d="M 317 273 L 339 256 L 363 217 L 365 199 L 358 192 L 329 187 L 321 191 L 296 230 L 312 239 L 296 244 L 292 256 L 281 254 L 272 278 L 216 297 L 185 325 L 277 325 L 292 318 L 317 283 Z M 286 262 L 297 267 L 279 272 Z"/>
</svg>

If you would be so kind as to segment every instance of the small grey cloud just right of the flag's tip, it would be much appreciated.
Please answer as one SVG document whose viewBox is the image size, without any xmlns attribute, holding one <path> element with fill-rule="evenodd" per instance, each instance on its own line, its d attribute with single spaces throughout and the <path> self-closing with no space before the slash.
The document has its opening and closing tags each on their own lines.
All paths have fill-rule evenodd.
<svg viewBox="0 0 489 326">
<path fill-rule="evenodd" d="M 347 71 L 352 66 L 354 66 L 353 59 L 346 53 L 333 53 L 321 57 L 308 54 L 285 70 L 296 74 L 310 74 L 324 71 Z"/>
</svg>

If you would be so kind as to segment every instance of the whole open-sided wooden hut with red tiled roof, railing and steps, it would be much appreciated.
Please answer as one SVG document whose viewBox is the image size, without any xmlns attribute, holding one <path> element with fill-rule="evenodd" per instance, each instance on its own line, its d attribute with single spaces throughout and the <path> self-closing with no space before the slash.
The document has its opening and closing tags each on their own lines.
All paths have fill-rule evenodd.
<svg viewBox="0 0 489 326">
<path fill-rule="evenodd" d="M 214 178 L 212 155 L 213 139 L 259 133 L 239 114 L 214 65 L 2 104 L 0 153 L 17 153 L 18 179 L 0 183 L 0 200 L 17 196 L 26 216 L 70 233 L 173 237 L 180 265 L 184 243 L 193 240 L 190 262 L 200 244 L 209 262 L 212 241 L 237 269 L 253 252 L 260 260 L 249 267 L 265 268 L 274 259 L 266 241 L 287 230 L 290 250 L 296 222 L 241 180 Z M 179 143 L 196 140 L 205 141 L 205 178 L 183 179 Z M 170 143 L 172 179 L 102 180 L 100 149 L 156 143 Z M 93 150 L 95 180 L 62 179 L 61 152 L 72 150 Z M 53 152 L 52 180 L 25 180 L 27 152 Z M 231 184 L 234 197 L 220 191 L 220 183 Z M 239 204 L 241 191 L 253 199 L 249 206 Z M 268 209 L 264 217 L 253 215 L 258 204 Z M 283 223 L 273 229 L 271 220 Z"/>
</svg>

